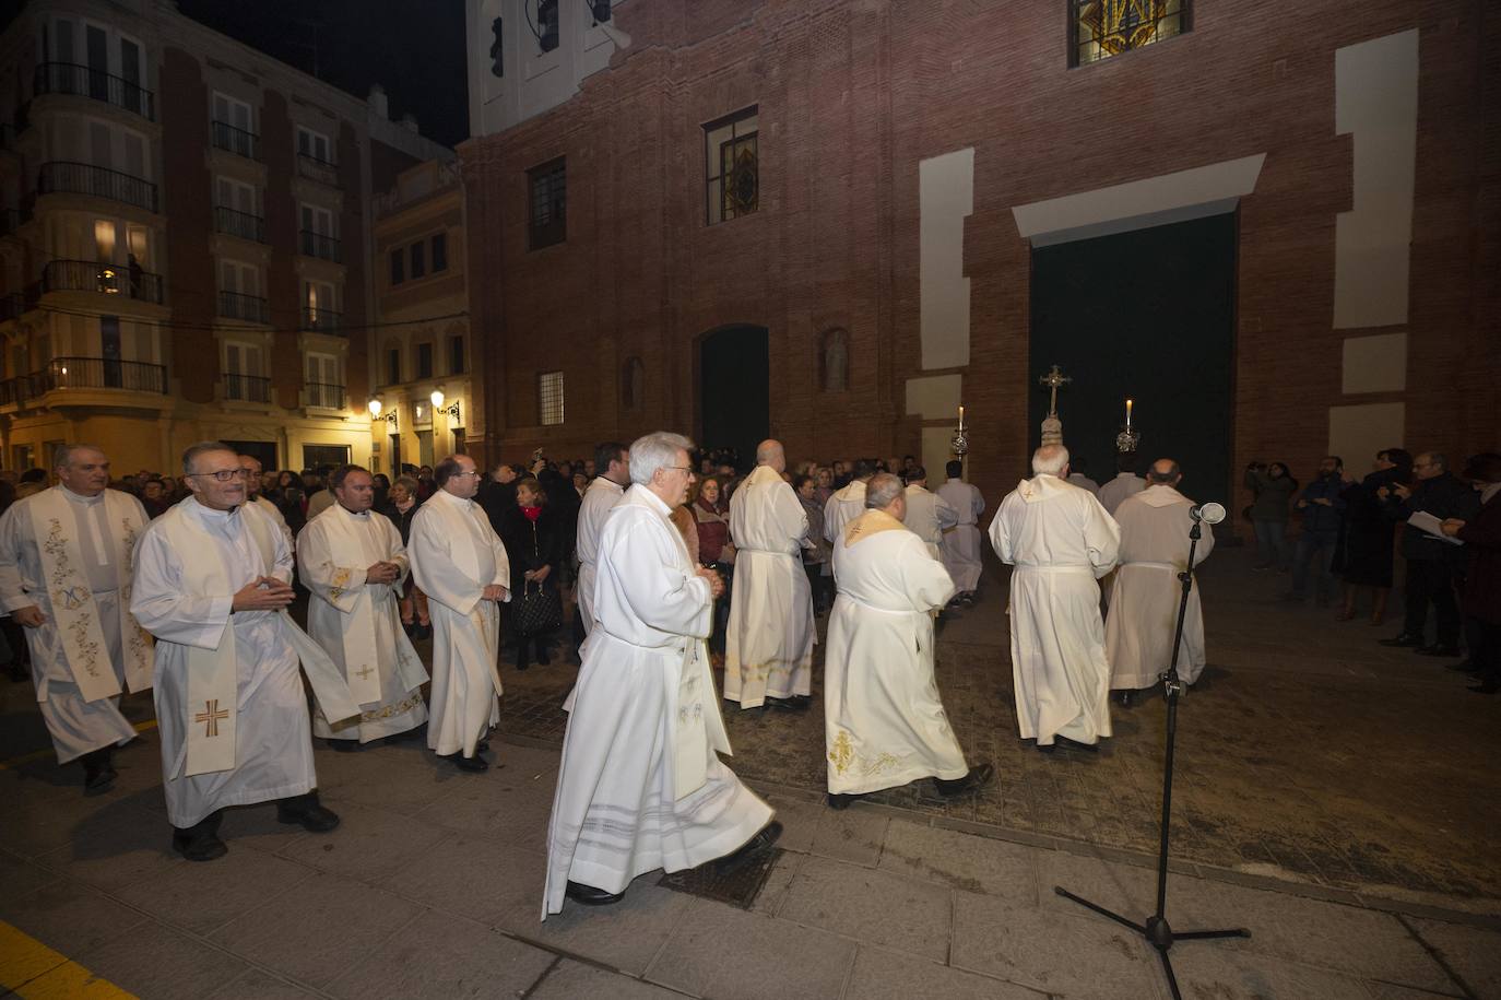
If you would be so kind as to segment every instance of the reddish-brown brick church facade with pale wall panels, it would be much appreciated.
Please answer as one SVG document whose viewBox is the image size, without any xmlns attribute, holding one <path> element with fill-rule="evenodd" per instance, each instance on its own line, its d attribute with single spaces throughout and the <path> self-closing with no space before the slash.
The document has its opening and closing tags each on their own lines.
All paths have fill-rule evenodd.
<svg viewBox="0 0 1501 1000">
<path fill-rule="evenodd" d="M 701 437 L 738 405 L 702 392 L 705 338 L 764 327 L 793 461 L 934 464 L 962 404 L 994 505 L 1046 407 L 1037 248 L 1211 212 L 1235 215 L 1226 468 L 1501 446 L 1495 5 L 1196 3 L 1175 38 L 1085 65 L 1064 0 L 626 0 L 614 27 L 629 45 L 576 95 L 459 149 L 486 459 Z M 705 128 L 747 110 L 754 210 L 719 221 Z M 536 204 L 554 165 L 561 221 Z M 561 233 L 539 239 L 539 210 Z M 1105 390 L 1073 374 L 1066 440 Z M 1174 399 L 1138 407 L 1159 414 L 1144 456 L 1169 450 Z M 1109 444 L 1088 450 L 1109 477 Z"/>
</svg>

